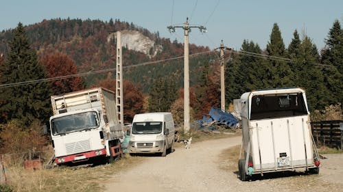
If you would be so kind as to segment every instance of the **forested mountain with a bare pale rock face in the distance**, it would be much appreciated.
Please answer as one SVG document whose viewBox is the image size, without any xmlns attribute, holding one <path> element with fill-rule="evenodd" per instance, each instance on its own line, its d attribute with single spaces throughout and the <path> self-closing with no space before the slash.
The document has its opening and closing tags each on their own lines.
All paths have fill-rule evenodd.
<svg viewBox="0 0 343 192">
<path fill-rule="evenodd" d="M 183 55 L 182 43 L 171 42 L 168 38 L 161 38 L 158 32 L 151 33 L 143 27 L 117 19 L 115 21 L 110 19 L 107 22 L 90 19 L 55 18 L 25 26 L 25 30 L 32 48 L 37 50 L 39 56 L 54 51 L 66 53 L 77 64 L 78 72 L 115 68 L 116 31 L 121 31 L 124 67 Z M 10 40 L 12 40 L 12 29 L 1 31 L 0 54 L 6 55 Z M 204 51 L 209 51 L 209 47 L 196 46 L 195 44 L 189 45 L 190 54 Z M 207 57 L 204 57 L 204 59 L 209 60 Z M 192 62 L 191 59 L 190 64 Z M 203 63 L 199 63 L 198 60 L 195 62 L 196 65 L 202 65 Z M 166 67 L 168 63 L 173 63 L 173 66 L 171 68 Z M 180 73 L 183 59 L 163 62 L 162 64 L 157 63 L 150 67 L 141 66 L 139 69 L 130 68 L 128 72 L 124 71 L 123 78 L 130 79 L 135 83 L 147 83 L 143 84 L 143 90 L 147 91 L 149 84 L 152 83 L 155 77 Z M 195 68 L 197 67 L 195 66 Z M 142 73 L 145 70 L 149 75 L 144 77 L 135 72 Z M 175 70 L 178 70 L 178 72 Z M 86 85 L 93 85 L 104 77 L 106 77 L 106 74 L 89 75 L 86 77 Z M 196 77 L 197 74 L 194 78 Z M 145 78 L 145 81 L 142 80 L 143 78 Z M 179 81 L 178 84 L 181 84 L 181 80 L 177 80 Z M 193 81 L 197 80 L 194 79 Z"/>
</svg>

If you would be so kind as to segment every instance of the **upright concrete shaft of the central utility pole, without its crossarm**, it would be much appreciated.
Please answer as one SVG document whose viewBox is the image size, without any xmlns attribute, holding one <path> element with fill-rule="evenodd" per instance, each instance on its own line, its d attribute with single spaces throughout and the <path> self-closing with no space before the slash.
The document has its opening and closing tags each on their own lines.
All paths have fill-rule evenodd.
<svg viewBox="0 0 343 192">
<path fill-rule="evenodd" d="M 184 46 L 184 132 L 189 133 L 189 24 L 188 20 L 185 23 L 185 46 Z"/>
</svg>

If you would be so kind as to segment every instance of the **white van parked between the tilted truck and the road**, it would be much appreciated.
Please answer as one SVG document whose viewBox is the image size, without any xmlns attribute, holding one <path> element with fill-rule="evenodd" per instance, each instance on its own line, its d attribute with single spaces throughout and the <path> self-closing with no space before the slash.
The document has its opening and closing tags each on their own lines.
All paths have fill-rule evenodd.
<svg viewBox="0 0 343 192">
<path fill-rule="evenodd" d="M 171 113 L 134 115 L 130 131 L 129 153 L 159 153 L 165 156 L 174 147 L 174 120 Z"/>
</svg>

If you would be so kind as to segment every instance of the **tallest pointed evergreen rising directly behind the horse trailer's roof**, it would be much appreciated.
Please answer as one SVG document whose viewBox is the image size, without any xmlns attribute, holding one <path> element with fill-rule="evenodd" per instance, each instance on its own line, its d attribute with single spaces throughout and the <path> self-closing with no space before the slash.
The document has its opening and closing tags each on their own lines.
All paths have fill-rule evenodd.
<svg viewBox="0 0 343 192">
<path fill-rule="evenodd" d="M 270 42 L 267 44 L 267 53 L 274 57 L 285 57 L 285 44 L 281 37 L 279 26 L 274 23 Z M 270 59 L 267 68 L 268 85 L 270 87 L 289 87 L 292 85 L 292 70 L 285 61 Z"/>
</svg>

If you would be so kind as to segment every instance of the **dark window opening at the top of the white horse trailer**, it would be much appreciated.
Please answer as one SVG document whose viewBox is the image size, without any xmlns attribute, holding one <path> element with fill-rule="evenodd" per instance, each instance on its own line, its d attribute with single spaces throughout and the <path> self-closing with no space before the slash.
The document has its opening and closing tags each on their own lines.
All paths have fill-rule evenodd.
<svg viewBox="0 0 343 192">
<path fill-rule="evenodd" d="M 250 120 L 307 115 L 303 94 L 252 96 Z"/>
</svg>

